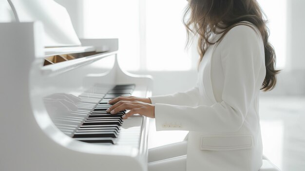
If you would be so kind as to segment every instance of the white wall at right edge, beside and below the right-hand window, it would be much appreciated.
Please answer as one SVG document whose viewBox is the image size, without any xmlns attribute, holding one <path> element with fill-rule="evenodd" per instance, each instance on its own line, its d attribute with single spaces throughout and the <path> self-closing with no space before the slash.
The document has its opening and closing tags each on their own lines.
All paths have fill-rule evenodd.
<svg viewBox="0 0 305 171">
<path fill-rule="evenodd" d="M 287 0 L 286 67 L 276 88 L 263 95 L 305 95 L 305 0 Z"/>
</svg>

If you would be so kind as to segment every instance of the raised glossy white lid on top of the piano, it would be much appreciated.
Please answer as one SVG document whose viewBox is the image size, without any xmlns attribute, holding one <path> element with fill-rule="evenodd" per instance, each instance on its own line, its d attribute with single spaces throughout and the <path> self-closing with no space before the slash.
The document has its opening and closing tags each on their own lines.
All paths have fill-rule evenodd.
<svg viewBox="0 0 305 171">
<path fill-rule="evenodd" d="M 19 22 L 40 20 L 44 47 L 81 45 L 67 10 L 54 0 L 8 0 Z"/>
</svg>

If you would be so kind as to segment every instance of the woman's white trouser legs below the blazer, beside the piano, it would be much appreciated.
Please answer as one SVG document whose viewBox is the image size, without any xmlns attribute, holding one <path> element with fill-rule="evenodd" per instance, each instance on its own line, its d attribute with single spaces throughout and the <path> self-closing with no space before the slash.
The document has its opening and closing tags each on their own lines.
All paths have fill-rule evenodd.
<svg viewBox="0 0 305 171">
<path fill-rule="evenodd" d="M 148 150 L 148 171 L 186 171 L 187 141 Z"/>
</svg>

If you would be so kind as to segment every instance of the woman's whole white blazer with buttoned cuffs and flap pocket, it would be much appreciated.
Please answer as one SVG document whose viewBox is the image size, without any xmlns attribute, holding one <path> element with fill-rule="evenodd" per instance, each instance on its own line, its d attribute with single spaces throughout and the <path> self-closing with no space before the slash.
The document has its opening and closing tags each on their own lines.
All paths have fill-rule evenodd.
<svg viewBox="0 0 305 171">
<path fill-rule="evenodd" d="M 190 131 L 187 171 L 258 171 L 262 165 L 258 109 L 265 52 L 252 27 L 256 32 L 235 26 L 208 48 L 193 89 L 150 97 L 157 131 Z"/>
</svg>

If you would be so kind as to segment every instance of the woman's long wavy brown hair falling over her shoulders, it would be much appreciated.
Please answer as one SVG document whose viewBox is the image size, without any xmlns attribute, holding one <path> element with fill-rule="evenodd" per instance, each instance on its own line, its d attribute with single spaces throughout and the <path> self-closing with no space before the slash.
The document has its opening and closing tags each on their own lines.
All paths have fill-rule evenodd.
<svg viewBox="0 0 305 171">
<path fill-rule="evenodd" d="M 280 70 L 275 70 L 276 55 L 273 46 L 268 42 L 267 21 L 256 0 L 189 0 L 183 17 L 188 33 L 187 45 L 191 42 L 191 34 L 198 35 L 199 61 L 201 61 L 210 45 L 221 41 L 231 28 L 247 25 L 245 21 L 255 25 L 262 35 L 266 76 L 261 90 L 272 90 L 276 84 L 276 74 Z M 216 42 L 210 42 L 214 34 L 222 35 Z"/>
</svg>

